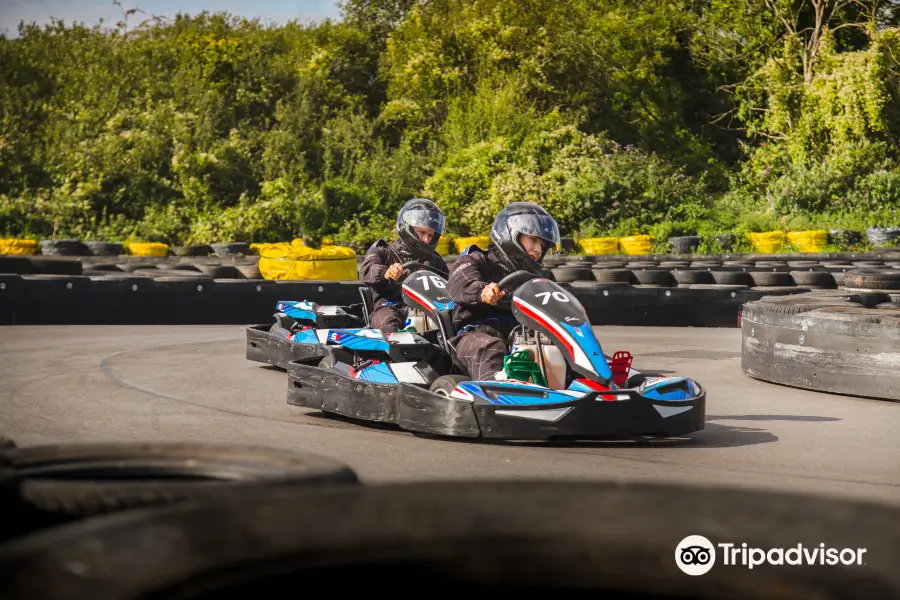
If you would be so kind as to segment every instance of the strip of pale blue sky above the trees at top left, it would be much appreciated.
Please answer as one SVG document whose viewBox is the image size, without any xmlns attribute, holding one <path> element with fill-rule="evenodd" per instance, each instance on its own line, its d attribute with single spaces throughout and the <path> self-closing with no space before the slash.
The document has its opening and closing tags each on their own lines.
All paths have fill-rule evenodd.
<svg viewBox="0 0 900 600">
<path fill-rule="evenodd" d="M 325 18 L 339 19 L 338 0 L 121 0 L 122 8 L 139 8 L 128 22 L 139 23 L 149 15 L 174 16 L 176 13 L 197 14 L 227 11 L 233 15 L 255 18 L 263 22 L 286 23 L 292 19 L 307 22 Z M 0 0 L 0 35 L 17 37 L 20 21 L 50 23 L 56 17 L 67 25 L 72 21 L 92 26 L 104 19 L 111 25 L 122 18 L 122 9 L 112 0 Z"/>
</svg>

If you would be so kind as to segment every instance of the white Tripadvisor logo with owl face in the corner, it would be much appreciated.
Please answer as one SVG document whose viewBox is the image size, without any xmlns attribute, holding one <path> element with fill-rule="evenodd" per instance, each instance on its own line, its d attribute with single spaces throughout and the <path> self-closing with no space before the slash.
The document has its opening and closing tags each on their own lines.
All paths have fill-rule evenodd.
<svg viewBox="0 0 900 600">
<path fill-rule="evenodd" d="M 864 565 L 865 548 L 831 548 L 825 544 L 790 548 L 756 548 L 746 542 L 713 544 L 702 535 L 689 535 L 675 548 L 675 564 L 687 575 L 708 573 L 716 562 L 753 569 L 760 565 Z"/>
</svg>

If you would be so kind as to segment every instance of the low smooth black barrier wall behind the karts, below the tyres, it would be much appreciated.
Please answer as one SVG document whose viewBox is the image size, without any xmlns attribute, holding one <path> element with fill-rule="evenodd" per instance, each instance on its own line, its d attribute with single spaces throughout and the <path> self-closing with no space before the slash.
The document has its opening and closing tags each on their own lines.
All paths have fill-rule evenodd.
<svg viewBox="0 0 900 600">
<path fill-rule="evenodd" d="M 247 324 L 271 320 L 279 300 L 348 305 L 361 301 L 359 281 L 264 281 L 131 273 L 0 275 L 2 325 Z M 566 285 L 566 284 L 563 284 Z M 737 327 L 741 306 L 771 294 L 808 288 L 689 288 L 574 282 L 573 292 L 597 325 Z"/>
</svg>

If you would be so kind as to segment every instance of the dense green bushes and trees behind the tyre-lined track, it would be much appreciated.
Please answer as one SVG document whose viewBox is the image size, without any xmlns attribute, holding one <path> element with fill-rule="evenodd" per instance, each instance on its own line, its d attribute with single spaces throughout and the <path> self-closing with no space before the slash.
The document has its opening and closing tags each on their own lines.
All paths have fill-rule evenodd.
<svg viewBox="0 0 900 600">
<path fill-rule="evenodd" d="M 900 224 L 885 0 L 347 0 L 0 38 L 0 235 L 364 249 L 410 197 L 485 234 Z M 706 243 L 706 242 L 704 242 Z"/>
</svg>

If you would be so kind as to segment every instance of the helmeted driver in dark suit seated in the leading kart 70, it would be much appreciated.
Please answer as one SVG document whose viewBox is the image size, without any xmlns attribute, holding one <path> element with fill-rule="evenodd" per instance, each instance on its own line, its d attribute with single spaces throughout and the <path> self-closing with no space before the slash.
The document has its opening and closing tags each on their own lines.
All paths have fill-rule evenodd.
<svg viewBox="0 0 900 600">
<path fill-rule="evenodd" d="M 449 287 L 457 335 L 450 341 L 469 377 L 483 381 L 503 372 L 506 340 L 517 323 L 509 303 L 500 303 L 506 292 L 497 283 L 519 270 L 552 280 L 542 262 L 559 247 L 559 227 L 546 210 L 511 202 L 494 219 L 487 250 L 471 246 L 453 265 Z"/>
</svg>

